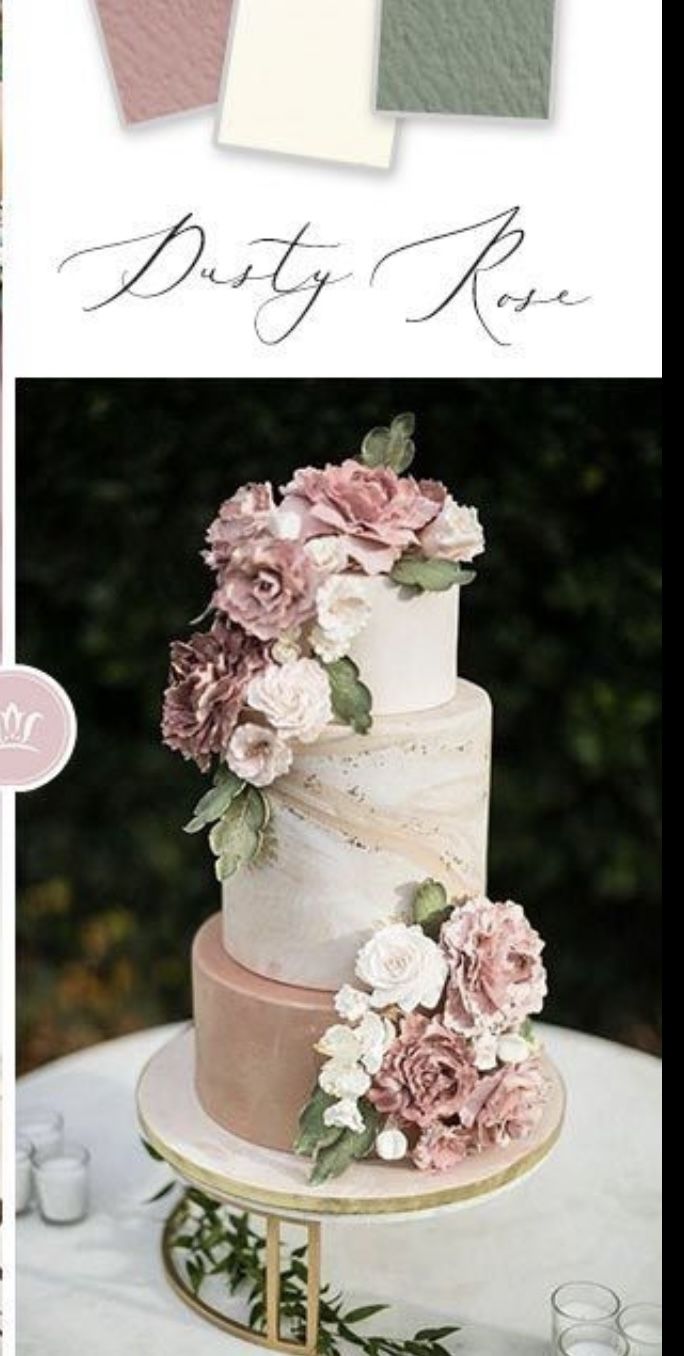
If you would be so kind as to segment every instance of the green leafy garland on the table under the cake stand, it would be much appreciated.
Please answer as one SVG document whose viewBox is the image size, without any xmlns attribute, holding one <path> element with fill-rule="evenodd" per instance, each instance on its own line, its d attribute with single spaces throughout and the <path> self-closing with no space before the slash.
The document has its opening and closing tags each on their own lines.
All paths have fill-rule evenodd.
<svg viewBox="0 0 684 1356">
<path fill-rule="evenodd" d="M 167 1195 L 163 1188 L 155 1199 Z M 233 1212 L 195 1188 L 186 1191 L 175 1212 L 170 1238 L 174 1252 L 182 1254 L 187 1283 L 195 1296 L 205 1283 L 223 1276 L 229 1295 L 243 1294 L 248 1304 L 248 1326 L 255 1333 L 266 1328 L 266 1239 L 250 1222 L 247 1212 Z M 281 1273 L 281 1314 L 292 1340 L 304 1341 L 307 1333 L 307 1245 L 289 1250 Z M 320 1291 L 320 1330 L 318 1351 L 322 1356 L 342 1356 L 343 1342 L 368 1356 L 451 1356 L 444 1341 L 459 1332 L 456 1326 L 423 1328 L 414 1337 L 368 1336 L 357 1329 L 384 1313 L 387 1304 L 364 1304 L 350 1309 L 345 1296 L 330 1285 Z"/>
</svg>

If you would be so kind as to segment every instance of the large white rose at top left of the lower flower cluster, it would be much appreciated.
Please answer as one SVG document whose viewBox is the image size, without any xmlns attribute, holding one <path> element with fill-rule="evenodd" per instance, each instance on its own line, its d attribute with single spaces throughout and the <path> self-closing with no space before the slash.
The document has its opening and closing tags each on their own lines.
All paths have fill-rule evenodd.
<svg viewBox="0 0 684 1356">
<path fill-rule="evenodd" d="M 446 959 L 417 923 L 383 928 L 358 953 L 356 972 L 372 990 L 373 1008 L 396 1003 L 404 1013 L 437 1008 Z"/>
</svg>

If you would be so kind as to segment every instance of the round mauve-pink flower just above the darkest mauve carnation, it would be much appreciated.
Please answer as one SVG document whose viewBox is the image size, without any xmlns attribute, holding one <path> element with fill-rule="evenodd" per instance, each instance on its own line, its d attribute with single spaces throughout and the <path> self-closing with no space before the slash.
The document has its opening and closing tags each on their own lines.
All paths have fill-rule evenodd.
<svg viewBox="0 0 684 1356">
<path fill-rule="evenodd" d="M 318 575 L 303 546 L 261 536 L 239 542 L 218 575 L 214 607 L 259 640 L 315 616 Z"/>
</svg>

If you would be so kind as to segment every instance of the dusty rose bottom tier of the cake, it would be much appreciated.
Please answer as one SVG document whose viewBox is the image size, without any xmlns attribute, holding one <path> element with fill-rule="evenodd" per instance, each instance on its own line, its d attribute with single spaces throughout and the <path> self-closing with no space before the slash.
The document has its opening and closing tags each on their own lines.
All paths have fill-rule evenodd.
<svg viewBox="0 0 684 1356">
<path fill-rule="evenodd" d="M 204 1111 L 233 1135 L 290 1150 L 315 1085 L 315 1044 L 334 1020 L 332 994 L 263 979 L 228 956 L 221 915 L 193 946 L 195 1088 Z"/>
</svg>

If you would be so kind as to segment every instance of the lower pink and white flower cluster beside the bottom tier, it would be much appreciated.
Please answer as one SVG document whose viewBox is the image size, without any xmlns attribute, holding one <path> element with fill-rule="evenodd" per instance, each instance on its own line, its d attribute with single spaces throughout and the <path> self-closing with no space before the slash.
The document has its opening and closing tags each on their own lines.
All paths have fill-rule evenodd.
<svg viewBox="0 0 684 1356">
<path fill-rule="evenodd" d="M 426 880 L 414 919 L 361 948 L 364 987 L 339 990 L 341 1021 L 316 1045 L 324 1062 L 294 1144 L 314 1158 L 315 1182 L 370 1154 L 442 1172 L 542 1119 L 548 1089 L 529 1018 L 547 982 L 522 909 L 448 904 Z"/>
</svg>

